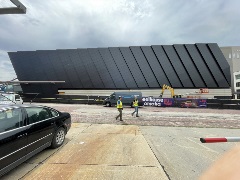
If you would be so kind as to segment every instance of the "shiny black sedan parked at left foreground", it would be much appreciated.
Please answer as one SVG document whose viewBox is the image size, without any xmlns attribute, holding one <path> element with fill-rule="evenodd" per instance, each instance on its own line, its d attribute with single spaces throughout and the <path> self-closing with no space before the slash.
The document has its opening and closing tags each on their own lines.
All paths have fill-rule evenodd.
<svg viewBox="0 0 240 180">
<path fill-rule="evenodd" d="M 71 116 L 39 105 L 0 105 L 0 176 L 47 147 L 57 148 Z"/>
</svg>

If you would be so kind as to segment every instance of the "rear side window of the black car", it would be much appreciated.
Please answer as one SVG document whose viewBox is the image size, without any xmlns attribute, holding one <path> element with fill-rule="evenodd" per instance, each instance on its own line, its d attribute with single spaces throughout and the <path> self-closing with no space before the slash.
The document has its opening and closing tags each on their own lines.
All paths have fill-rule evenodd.
<svg viewBox="0 0 240 180">
<path fill-rule="evenodd" d="M 37 123 L 46 119 L 49 119 L 51 116 L 47 108 L 34 107 L 26 108 L 29 124 Z"/>
</svg>

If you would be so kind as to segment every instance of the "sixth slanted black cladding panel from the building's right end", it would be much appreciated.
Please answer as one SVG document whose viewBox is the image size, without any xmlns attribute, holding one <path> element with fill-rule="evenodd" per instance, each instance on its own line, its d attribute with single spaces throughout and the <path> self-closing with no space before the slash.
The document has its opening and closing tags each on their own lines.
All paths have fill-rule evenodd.
<svg viewBox="0 0 240 180">
<path fill-rule="evenodd" d="M 163 47 L 160 45 L 154 45 L 152 46 L 152 49 L 171 83 L 170 86 L 172 86 L 173 88 L 183 87 L 171 63 L 169 62 L 168 57 L 163 50 Z"/>
</svg>

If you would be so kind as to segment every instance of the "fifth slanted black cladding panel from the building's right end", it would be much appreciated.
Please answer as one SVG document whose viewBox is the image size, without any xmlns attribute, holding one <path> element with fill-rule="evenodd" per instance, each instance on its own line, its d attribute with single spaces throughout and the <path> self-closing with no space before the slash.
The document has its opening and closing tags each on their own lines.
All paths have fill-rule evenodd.
<svg viewBox="0 0 240 180">
<path fill-rule="evenodd" d="M 171 61 L 171 64 L 173 68 L 175 69 L 175 72 L 177 73 L 177 76 L 179 77 L 180 81 L 183 84 L 183 87 L 194 87 L 192 80 L 190 79 L 189 75 L 187 74 L 181 60 L 179 59 L 175 49 L 173 46 L 170 45 L 164 45 L 163 46 L 165 52 L 167 53 L 167 56 L 169 60 Z"/>
</svg>

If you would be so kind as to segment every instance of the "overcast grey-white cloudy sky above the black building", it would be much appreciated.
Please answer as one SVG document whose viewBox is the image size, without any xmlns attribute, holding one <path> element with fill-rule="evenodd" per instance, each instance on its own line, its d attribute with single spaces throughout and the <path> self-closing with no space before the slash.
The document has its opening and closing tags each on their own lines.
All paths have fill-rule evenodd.
<svg viewBox="0 0 240 180">
<path fill-rule="evenodd" d="M 27 14 L 0 15 L 0 80 L 16 77 L 9 51 L 199 42 L 240 46 L 239 0 L 20 2 Z M 0 7 L 8 5 L 0 0 Z"/>
</svg>

